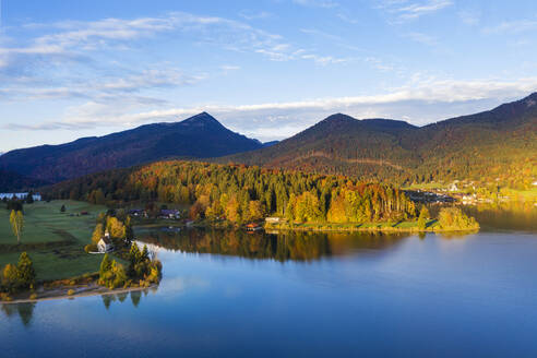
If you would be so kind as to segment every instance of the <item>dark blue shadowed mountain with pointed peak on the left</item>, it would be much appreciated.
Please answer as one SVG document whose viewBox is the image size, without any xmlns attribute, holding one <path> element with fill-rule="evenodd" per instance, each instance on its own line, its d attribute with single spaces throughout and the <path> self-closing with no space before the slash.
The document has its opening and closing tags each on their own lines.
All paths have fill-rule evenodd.
<svg viewBox="0 0 537 358">
<path fill-rule="evenodd" d="M 0 169 L 58 182 L 164 158 L 218 157 L 262 146 L 259 141 L 235 133 L 202 112 L 180 122 L 146 124 L 67 144 L 11 151 L 0 157 Z"/>
</svg>

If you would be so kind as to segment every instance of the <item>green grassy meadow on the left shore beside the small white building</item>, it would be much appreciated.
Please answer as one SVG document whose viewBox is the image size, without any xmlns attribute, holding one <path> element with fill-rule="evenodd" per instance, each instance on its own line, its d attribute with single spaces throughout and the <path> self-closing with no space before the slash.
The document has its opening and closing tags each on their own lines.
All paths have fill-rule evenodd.
<svg viewBox="0 0 537 358">
<path fill-rule="evenodd" d="M 65 213 L 60 213 L 61 205 Z M 85 202 L 52 201 L 24 205 L 21 246 L 11 231 L 9 212 L 0 205 L 0 266 L 16 263 L 22 251 L 34 261 L 38 281 L 60 279 L 98 271 L 103 256 L 87 254 L 95 218 L 105 206 Z M 90 215 L 76 216 L 81 212 Z M 73 214 L 73 216 L 70 216 Z"/>
</svg>

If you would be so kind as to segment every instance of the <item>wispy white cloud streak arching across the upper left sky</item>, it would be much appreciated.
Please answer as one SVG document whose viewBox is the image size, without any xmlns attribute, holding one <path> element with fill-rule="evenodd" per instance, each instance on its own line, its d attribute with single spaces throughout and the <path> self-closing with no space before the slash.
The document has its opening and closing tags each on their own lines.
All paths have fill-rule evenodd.
<svg viewBox="0 0 537 358">
<path fill-rule="evenodd" d="M 171 12 L 160 17 L 63 21 L 23 27 L 26 31 L 38 31 L 40 35 L 0 43 L 0 75 L 15 77 L 35 73 L 39 68 L 64 68 L 70 62 L 98 62 L 94 57 L 107 50 L 110 56 L 118 51 L 123 53 L 122 57 L 129 56 L 127 51 L 135 50 L 139 40 L 156 37 L 162 33 L 186 34 L 195 43 L 231 51 L 259 53 L 274 61 L 312 59 L 318 62 L 315 59 L 319 57 L 330 57 L 311 51 L 311 57 L 298 56 L 306 51 L 278 34 L 235 20 L 183 12 Z M 11 46 L 7 46 L 8 43 Z"/>
</svg>

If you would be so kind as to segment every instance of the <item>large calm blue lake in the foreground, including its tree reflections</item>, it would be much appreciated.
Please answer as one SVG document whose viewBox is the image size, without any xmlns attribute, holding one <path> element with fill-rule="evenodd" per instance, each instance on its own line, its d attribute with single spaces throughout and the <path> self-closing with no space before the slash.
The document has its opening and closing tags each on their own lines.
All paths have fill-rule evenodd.
<svg viewBox="0 0 537 358">
<path fill-rule="evenodd" d="M 535 222 L 476 213 L 466 236 L 138 230 L 157 289 L 4 305 L 2 356 L 536 357 Z"/>
</svg>

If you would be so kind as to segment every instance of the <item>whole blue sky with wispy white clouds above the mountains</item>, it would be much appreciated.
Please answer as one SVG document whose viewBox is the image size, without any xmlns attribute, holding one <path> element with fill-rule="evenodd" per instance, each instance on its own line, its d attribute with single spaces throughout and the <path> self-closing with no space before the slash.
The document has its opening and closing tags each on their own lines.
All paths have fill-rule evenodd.
<svg viewBox="0 0 537 358">
<path fill-rule="evenodd" d="M 207 111 L 261 141 L 537 91 L 535 0 L 0 0 L 0 152 Z"/>
</svg>

